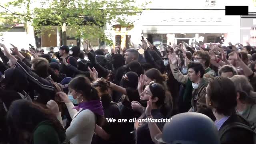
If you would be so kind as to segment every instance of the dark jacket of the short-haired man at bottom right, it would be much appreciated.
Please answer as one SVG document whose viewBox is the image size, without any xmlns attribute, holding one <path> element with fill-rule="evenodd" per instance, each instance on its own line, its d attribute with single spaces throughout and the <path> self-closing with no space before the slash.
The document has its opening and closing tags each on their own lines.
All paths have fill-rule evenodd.
<svg viewBox="0 0 256 144">
<path fill-rule="evenodd" d="M 226 122 L 220 127 L 219 134 L 222 133 L 224 127 L 233 122 L 240 122 L 249 126 L 249 123 L 236 114 L 232 114 Z M 250 131 L 242 128 L 231 128 L 224 134 L 220 135 L 221 144 L 253 144 L 253 135 Z"/>
</svg>

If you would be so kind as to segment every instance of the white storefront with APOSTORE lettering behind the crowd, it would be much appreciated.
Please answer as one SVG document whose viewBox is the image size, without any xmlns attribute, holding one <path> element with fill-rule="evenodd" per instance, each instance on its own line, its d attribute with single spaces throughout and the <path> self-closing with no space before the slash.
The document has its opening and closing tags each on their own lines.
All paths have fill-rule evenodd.
<svg viewBox="0 0 256 144">
<path fill-rule="evenodd" d="M 210 42 L 239 42 L 240 16 L 225 16 L 225 10 L 145 10 L 142 35 L 154 44 L 188 44 L 194 39 Z"/>
</svg>

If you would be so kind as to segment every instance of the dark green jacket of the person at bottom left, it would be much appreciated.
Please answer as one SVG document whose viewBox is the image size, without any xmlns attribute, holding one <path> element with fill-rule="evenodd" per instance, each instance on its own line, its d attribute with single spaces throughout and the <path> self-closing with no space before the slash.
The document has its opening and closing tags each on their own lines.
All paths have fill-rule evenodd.
<svg viewBox="0 0 256 144">
<path fill-rule="evenodd" d="M 52 122 L 42 121 L 35 128 L 32 144 L 62 144 L 65 138 L 64 128 L 56 129 Z"/>
</svg>

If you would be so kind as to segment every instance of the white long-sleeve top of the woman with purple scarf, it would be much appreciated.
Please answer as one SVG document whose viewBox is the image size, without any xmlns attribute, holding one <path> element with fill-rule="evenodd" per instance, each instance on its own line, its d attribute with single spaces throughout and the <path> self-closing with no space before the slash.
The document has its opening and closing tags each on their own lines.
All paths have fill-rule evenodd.
<svg viewBox="0 0 256 144">
<path fill-rule="evenodd" d="M 72 122 L 66 130 L 66 141 L 72 144 L 91 144 L 96 126 L 96 116 L 90 110 L 77 111 L 72 102 L 65 103 Z"/>
</svg>

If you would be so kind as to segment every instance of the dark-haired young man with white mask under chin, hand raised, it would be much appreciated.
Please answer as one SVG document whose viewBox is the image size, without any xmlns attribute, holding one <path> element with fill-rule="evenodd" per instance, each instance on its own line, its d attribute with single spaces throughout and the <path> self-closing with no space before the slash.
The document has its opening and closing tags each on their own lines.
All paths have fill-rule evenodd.
<svg viewBox="0 0 256 144">
<path fill-rule="evenodd" d="M 172 55 L 170 59 L 172 62 L 171 65 L 174 66 L 177 62 L 175 55 Z M 183 97 L 183 106 L 190 107 L 188 112 L 199 112 L 205 114 L 206 116 L 209 116 L 212 120 L 215 120 L 212 111 L 206 107 L 205 103 L 205 92 L 203 91 L 203 88 L 208 85 L 208 81 L 206 80 L 206 78 L 203 78 L 205 74 L 204 69 L 205 68 L 202 64 L 198 62 L 190 62 L 190 64 L 188 64 L 187 76 L 183 76 L 178 68 L 173 69 L 172 72 L 174 73 L 174 75 L 176 74 L 176 76 L 177 73 L 179 73 L 180 79 L 182 79 L 180 82 L 186 84 L 186 89 L 190 86 L 191 82 L 191 93 L 188 93 L 188 91 L 186 91 L 185 89 L 185 97 Z"/>
</svg>

